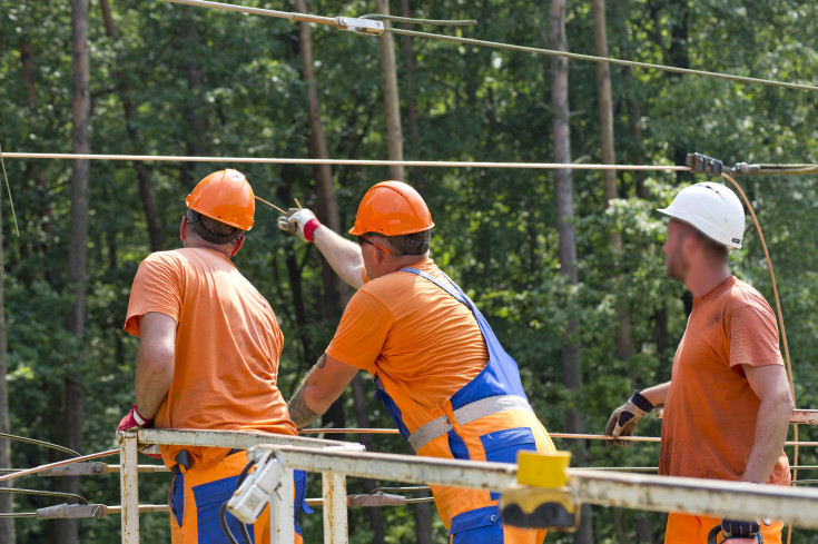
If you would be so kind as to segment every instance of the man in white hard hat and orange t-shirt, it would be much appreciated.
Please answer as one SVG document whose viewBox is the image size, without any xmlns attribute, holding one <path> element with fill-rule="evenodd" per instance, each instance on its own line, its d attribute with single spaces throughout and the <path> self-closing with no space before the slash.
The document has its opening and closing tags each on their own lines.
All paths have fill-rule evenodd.
<svg viewBox="0 0 818 544">
<path fill-rule="evenodd" d="M 704 182 L 679 191 L 667 208 L 662 249 L 669 277 L 684 281 L 693 309 L 673 358 L 670 382 L 641 392 L 611 416 L 614 442 L 664 405 L 659 474 L 789 485 L 783 453 L 792 397 L 776 316 L 750 285 L 730 274 L 741 247 L 745 209 L 727 187 Z M 781 522 L 718 520 L 671 513 L 666 544 L 781 542 Z M 721 542 L 721 537 L 719 537 Z"/>
</svg>

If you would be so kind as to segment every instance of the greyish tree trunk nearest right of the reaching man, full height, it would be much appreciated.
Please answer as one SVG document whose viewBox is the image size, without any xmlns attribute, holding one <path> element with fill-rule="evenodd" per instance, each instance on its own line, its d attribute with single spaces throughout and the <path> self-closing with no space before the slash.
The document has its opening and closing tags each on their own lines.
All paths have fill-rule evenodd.
<svg viewBox="0 0 818 544">
<path fill-rule="evenodd" d="M 551 0 L 549 13 L 549 41 L 551 49 L 568 51 L 565 34 L 565 0 Z M 571 127 L 568 103 L 568 59 L 564 57 L 551 58 L 551 110 L 553 116 L 554 161 L 571 162 Z M 571 285 L 579 283 L 576 270 L 576 236 L 573 218 L 573 187 L 571 170 L 560 168 L 554 170 L 554 199 L 556 201 L 556 230 L 560 236 L 560 268 Z M 573 304 L 573 303 L 569 303 Z M 576 397 L 582 389 L 582 367 L 580 346 L 580 323 L 576 317 L 569 317 L 565 324 L 565 334 L 562 337 L 562 369 L 563 382 L 571 394 Z M 572 403 L 573 404 L 573 403 Z M 584 421 L 579 408 L 570 406 L 565 409 L 565 423 L 569 433 L 582 433 Z M 584 463 L 587 444 L 578 441 L 575 453 L 579 463 Z M 583 507 L 582 524 L 574 534 L 578 544 L 593 542 L 591 510 Z"/>
</svg>

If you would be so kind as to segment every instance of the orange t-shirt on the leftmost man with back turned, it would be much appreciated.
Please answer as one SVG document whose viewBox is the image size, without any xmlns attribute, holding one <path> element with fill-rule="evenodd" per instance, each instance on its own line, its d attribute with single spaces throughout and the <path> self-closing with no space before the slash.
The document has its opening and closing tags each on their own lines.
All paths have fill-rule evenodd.
<svg viewBox="0 0 818 544">
<path fill-rule="evenodd" d="M 228 258 L 204 248 L 159 251 L 140 265 L 125 330 L 157 311 L 176 324 L 174 378 L 154 425 L 296 435 L 276 380 L 284 337 L 269 304 Z M 180 446 L 162 446 L 176 464 Z M 223 448 L 187 447 L 194 463 Z"/>
</svg>

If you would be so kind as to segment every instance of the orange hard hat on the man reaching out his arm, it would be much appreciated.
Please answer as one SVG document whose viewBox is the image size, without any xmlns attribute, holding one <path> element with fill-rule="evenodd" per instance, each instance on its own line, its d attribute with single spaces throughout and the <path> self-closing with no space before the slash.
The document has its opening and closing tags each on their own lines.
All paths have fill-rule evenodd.
<svg viewBox="0 0 818 544">
<path fill-rule="evenodd" d="M 364 195 L 349 234 L 398 236 L 422 233 L 432 227 L 432 214 L 416 190 L 403 181 L 382 181 Z"/>
</svg>

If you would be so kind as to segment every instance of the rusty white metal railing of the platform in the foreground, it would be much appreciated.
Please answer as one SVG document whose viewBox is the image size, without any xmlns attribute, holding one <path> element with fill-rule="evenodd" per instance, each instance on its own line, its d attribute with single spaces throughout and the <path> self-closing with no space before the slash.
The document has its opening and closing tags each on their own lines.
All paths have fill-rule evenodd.
<svg viewBox="0 0 818 544">
<path fill-rule="evenodd" d="M 348 541 L 346 477 L 500 492 L 516 484 L 518 466 L 364 452 L 359 445 L 264 433 L 139 429 L 120 435 L 122 543 L 139 543 L 138 445 L 176 444 L 269 449 L 285 468 L 270 493 L 270 542 L 293 543 L 293 471 L 322 473 L 325 544 Z M 818 530 L 818 489 L 569 468 L 578 504 L 737 518 L 773 518 Z M 289 487 L 287 487 L 289 485 Z"/>
</svg>

